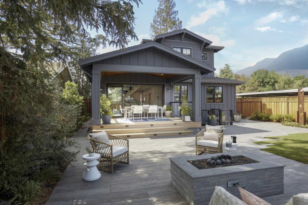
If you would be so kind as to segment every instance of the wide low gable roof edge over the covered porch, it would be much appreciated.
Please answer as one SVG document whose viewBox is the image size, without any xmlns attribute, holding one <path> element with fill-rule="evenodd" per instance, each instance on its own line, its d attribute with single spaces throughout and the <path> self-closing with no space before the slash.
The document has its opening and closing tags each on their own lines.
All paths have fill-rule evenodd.
<svg viewBox="0 0 308 205">
<path fill-rule="evenodd" d="M 210 65 L 208 65 L 204 62 L 198 61 L 195 58 L 192 58 L 190 56 L 182 54 L 182 53 L 180 53 L 176 50 L 168 48 L 167 46 L 164 46 L 164 45 L 157 43 L 155 41 L 139 44 L 139 45 L 136 45 L 136 46 L 131 46 L 131 47 L 128 47 L 124 50 L 115 50 L 115 51 L 111 51 L 111 52 L 108 52 L 108 53 L 92 56 L 92 57 L 89 57 L 89 58 L 80 59 L 79 65 L 85 71 L 85 73 L 91 78 L 92 77 L 91 74 L 92 74 L 92 63 L 93 62 L 102 61 L 104 59 L 113 58 L 115 56 L 120 56 L 120 55 L 123 55 L 123 54 L 136 52 L 136 51 L 143 50 L 143 49 L 146 49 L 146 48 L 156 48 L 156 49 L 158 49 L 162 52 L 165 52 L 165 53 L 171 54 L 175 57 L 181 58 L 184 61 L 187 61 L 189 63 L 192 63 L 192 64 L 198 66 L 200 68 L 200 70 L 202 70 L 206 73 L 213 72 L 215 70 L 215 68 L 213 66 L 210 66 Z"/>
</svg>

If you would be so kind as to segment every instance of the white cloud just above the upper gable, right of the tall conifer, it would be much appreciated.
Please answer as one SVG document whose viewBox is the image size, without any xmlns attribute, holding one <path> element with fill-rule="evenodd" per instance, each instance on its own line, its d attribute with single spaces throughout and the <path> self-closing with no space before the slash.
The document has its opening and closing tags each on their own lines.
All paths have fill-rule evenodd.
<svg viewBox="0 0 308 205">
<path fill-rule="evenodd" d="M 228 12 L 228 8 L 225 5 L 225 1 L 223 0 L 211 3 L 203 1 L 198 3 L 197 6 L 199 8 L 205 7 L 206 10 L 199 13 L 198 15 L 191 16 L 186 26 L 187 29 L 190 29 L 193 26 L 204 24 L 207 20 L 209 20 L 210 18 L 212 18 L 217 14 Z"/>
</svg>

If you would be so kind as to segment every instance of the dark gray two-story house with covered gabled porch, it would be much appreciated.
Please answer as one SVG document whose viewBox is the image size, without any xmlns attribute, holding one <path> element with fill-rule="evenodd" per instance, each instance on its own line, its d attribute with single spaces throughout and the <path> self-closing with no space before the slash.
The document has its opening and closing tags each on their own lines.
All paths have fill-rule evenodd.
<svg viewBox="0 0 308 205">
<path fill-rule="evenodd" d="M 235 111 L 236 85 L 245 82 L 214 77 L 214 53 L 224 47 L 211 44 L 181 29 L 79 60 L 92 83 L 92 125 L 100 125 L 100 93 L 108 95 L 114 111 L 120 105 L 171 104 L 176 112 L 182 95 L 188 94 L 195 122 L 201 121 L 202 109 Z"/>
</svg>

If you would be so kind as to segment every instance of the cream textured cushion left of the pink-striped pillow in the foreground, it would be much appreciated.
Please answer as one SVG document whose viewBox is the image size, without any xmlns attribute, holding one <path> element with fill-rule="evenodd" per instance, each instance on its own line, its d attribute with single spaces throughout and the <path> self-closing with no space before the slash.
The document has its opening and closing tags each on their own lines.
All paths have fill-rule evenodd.
<svg viewBox="0 0 308 205">
<path fill-rule="evenodd" d="M 233 196 L 222 187 L 215 187 L 209 205 L 247 205 L 245 202 Z"/>
</svg>

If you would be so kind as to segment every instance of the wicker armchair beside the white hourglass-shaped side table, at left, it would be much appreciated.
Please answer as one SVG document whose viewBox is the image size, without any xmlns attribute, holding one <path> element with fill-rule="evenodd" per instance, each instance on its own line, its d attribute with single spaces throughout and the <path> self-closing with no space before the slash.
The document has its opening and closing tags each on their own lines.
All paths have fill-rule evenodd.
<svg viewBox="0 0 308 205">
<path fill-rule="evenodd" d="M 111 144 L 100 142 L 91 137 L 89 137 L 89 140 L 93 151 L 101 155 L 98 159 L 99 164 L 97 165 L 97 168 L 102 171 L 113 173 L 113 165 L 115 163 L 129 164 L 128 139 L 116 137 L 114 135 L 108 135 L 108 138 Z M 120 155 L 113 156 L 113 147 L 127 147 L 127 151 Z"/>
</svg>

